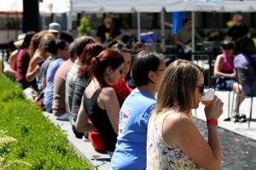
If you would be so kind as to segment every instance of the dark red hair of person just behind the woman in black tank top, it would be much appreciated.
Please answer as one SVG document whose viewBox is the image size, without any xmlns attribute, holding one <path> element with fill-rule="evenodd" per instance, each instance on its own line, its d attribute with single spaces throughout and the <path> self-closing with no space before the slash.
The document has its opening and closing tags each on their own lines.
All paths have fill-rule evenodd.
<svg viewBox="0 0 256 170">
<path fill-rule="evenodd" d="M 80 56 L 81 65 L 79 66 L 78 76 L 79 77 L 89 77 L 90 73 L 90 60 L 96 57 L 106 49 L 102 43 L 89 43 Z"/>
</svg>

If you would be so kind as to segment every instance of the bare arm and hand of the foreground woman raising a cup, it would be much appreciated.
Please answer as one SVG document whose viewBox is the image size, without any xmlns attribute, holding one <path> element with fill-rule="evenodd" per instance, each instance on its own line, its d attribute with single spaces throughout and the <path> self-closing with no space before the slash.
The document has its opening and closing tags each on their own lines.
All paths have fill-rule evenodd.
<svg viewBox="0 0 256 170">
<path fill-rule="evenodd" d="M 216 97 L 211 108 L 207 109 L 207 118 L 216 118 L 222 114 L 223 103 Z M 222 152 L 218 139 L 218 127 L 208 126 L 208 143 L 203 138 L 189 116 L 182 113 L 171 114 L 163 124 L 163 136 L 167 144 L 179 148 L 195 163 L 205 169 L 220 169 Z"/>
</svg>

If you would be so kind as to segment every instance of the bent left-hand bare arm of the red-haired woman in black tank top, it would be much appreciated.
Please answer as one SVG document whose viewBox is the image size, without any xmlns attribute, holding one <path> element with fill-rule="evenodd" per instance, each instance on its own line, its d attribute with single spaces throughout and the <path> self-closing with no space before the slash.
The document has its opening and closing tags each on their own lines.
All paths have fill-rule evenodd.
<svg viewBox="0 0 256 170">
<path fill-rule="evenodd" d="M 79 114 L 76 121 L 76 130 L 79 133 L 96 131 L 96 127 L 91 122 L 89 122 L 89 120 L 89 116 L 84 109 L 84 98 L 82 98 L 82 102 L 79 108 Z"/>
</svg>

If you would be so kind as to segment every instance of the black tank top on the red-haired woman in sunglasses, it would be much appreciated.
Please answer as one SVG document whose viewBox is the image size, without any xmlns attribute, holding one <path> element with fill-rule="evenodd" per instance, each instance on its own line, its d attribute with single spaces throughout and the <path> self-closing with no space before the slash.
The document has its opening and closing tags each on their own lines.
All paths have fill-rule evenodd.
<svg viewBox="0 0 256 170">
<path fill-rule="evenodd" d="M 114 132 L 112 124 L 109 121 L 107 111 L 102 110 L 98 105 L 97 99 L 101 91 L 102 88 L 98 88 L 90 99 L 87 99 L 84 93 L 84 109 L 90 117 L 90 122 L 93 123 L 100 133 L 105 149 L 107 151 L 113 151 L 117 141 L 117 134 Z"/>
</svg>

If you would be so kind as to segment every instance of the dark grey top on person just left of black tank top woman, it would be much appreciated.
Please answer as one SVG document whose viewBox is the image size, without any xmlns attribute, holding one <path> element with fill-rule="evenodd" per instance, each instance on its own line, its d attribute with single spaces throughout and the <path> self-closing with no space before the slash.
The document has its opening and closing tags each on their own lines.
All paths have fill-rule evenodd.
<svg viewBox="0 0 256 170">
<path fill-rule="evenodd" d="M 72 102 L 72 109 L 71 109 L 71 119 L 73 126 L 75 126 L 75 122 L 77 120 L 77 116 L 79 113 L 79 108 L 82 102 L 82 97 L 84 94 L 84 89 L 88 86 L 88 84 L 90 83 L 90 78 L 77 78 L 75 80 L 75 87 L 73 90 L 73 102 Z"/>
</svg>

